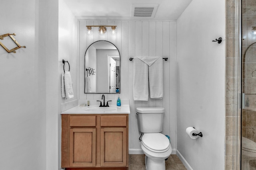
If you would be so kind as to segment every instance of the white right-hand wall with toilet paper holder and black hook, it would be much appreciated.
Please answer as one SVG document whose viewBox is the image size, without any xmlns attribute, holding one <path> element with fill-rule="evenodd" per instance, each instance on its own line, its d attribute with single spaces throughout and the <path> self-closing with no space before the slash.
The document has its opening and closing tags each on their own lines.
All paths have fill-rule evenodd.
<svg viewBox="0 0 256 170">
<path fill-rule="evenodd" d="M 225 1 L 193 0 L 177 21 L 177 153 L 194 170 L 224 170 Z M 187 127 L 202 131 L 192 140 Z"/>
</svg>

